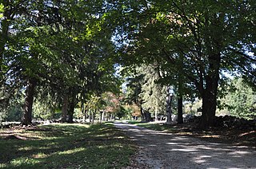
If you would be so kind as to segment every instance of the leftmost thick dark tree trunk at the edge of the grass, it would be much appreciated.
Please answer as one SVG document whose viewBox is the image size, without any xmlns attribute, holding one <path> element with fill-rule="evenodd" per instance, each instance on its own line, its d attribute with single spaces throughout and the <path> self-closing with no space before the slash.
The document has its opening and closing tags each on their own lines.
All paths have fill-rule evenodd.
<svg viewBox="0 0 256 169">
<path fill-rule="evenodd" d="M 36 80 L 30 78 L 26 86 L 26 98 L 24 113 L 22 116 L 22 125 L 32 124 L 32 106 L 34 100 L 34 88 L 36 86 Z"/>
</svg>

